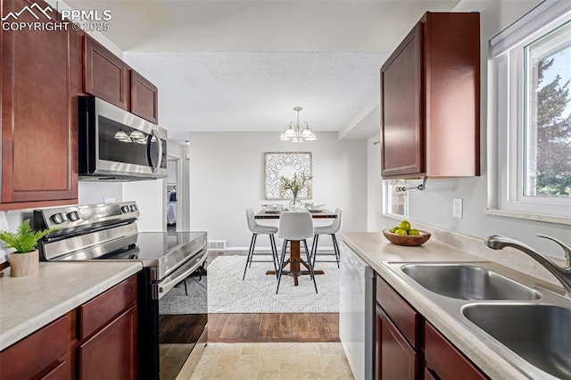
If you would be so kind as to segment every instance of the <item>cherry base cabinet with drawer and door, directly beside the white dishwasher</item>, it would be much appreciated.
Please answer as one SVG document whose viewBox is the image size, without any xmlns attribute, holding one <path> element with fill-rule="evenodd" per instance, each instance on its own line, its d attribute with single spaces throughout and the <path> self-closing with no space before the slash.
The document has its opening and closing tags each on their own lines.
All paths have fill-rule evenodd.
<svg viewBox="0 0 571 380">
<path fill-rule="evenodd" d="M 418 379 L 422 317 L 377 276 L 375 373 L 379 379 Z"/>
</svg>

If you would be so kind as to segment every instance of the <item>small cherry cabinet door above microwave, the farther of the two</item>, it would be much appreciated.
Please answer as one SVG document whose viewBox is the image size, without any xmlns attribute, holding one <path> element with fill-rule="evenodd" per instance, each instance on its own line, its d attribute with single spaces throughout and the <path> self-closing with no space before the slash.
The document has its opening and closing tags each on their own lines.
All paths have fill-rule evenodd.
<svg viewBox="0 0 571 380">
<path fill-rule="evenodd" d="M 131 70 L 131 112 L 153 123 L 159 122 L 159 90 L 145 77 Z"/>
</svg>

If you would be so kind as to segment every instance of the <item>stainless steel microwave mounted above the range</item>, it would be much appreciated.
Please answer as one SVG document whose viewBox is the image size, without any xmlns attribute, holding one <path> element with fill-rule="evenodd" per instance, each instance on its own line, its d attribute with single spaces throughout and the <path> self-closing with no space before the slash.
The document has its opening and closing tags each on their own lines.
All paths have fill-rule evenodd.
<svg viewBox="0 0 571 380">
<path fill-rule="evenodd" d="M 79 96 L 79 179 L 167 177 L 167 131 L 95 96 Z"/>
</svg>

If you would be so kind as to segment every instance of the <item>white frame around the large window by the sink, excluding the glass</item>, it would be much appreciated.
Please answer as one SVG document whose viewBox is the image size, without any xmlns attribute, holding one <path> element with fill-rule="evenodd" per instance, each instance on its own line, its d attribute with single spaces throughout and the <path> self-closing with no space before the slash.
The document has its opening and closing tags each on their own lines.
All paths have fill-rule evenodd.
<svg viewBox="0 0 571 380">
<path fill-rule="evenodd" d="M 523 195 L 524 48 L 569 20 L 570 2 L 547 0 L 490 41 L 488 214 L 571 225 L 571 199 Z"/>
</svg>

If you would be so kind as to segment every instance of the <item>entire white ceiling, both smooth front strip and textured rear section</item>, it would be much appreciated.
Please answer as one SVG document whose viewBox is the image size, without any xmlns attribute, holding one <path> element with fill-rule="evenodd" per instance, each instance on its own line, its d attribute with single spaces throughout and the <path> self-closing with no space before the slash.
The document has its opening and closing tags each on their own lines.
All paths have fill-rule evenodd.
<svg viewBox="0 0 571 380">
<path fill-rule="evenodd" d="M 279 131 L 299 105 L 318 132 L 366 138 L 378 130 L 377 112 L 362 107 L 386 57 L 424 12 L 451 11 L 459 0 L 66 3 L 112 11 L 103 35 L 159 87 L 170 136 Z"/>
</svg>

